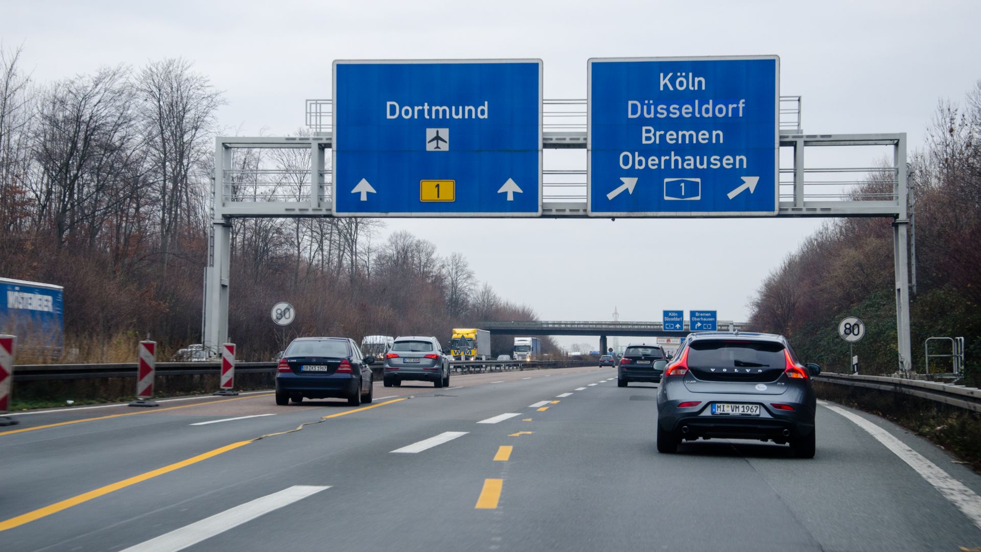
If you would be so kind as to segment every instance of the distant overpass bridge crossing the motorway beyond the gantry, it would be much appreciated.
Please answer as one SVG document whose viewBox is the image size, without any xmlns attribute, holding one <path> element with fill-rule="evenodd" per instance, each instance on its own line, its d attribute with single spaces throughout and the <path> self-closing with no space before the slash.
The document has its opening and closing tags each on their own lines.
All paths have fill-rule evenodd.
<svg viewBox="0 0 981 552">
<path fill-rule="evenodd" d="M 747 322 L 734 322 L 732 320 L 719 320 L 716 323 L 716 327 L 720 331 L 743 331 L 747 326 Z M 600 351 L 606 351 L 606 338 L 608 336 L 683 337 L 693 331 L 699 331 L 698 328 L 692 328 L 688 320 L 685 320 L 684 331 L 665 331 L 664 324 L 661 322 L 504 320 L 481 322 L 478 327 L 488 330 L 490 335 L 599 336 Z"/>
</svg>

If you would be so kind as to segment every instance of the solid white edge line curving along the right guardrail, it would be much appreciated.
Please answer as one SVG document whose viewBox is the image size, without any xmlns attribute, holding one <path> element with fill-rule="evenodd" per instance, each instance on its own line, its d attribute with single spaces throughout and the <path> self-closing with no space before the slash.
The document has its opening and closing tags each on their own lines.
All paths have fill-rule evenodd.
<svg viewBox="0 0 981 552">
<path fill-rule="evenodd" d="M 841 407 L 829 405 L 824 401 L 821 401 L 821 406 L 849 418 L 855 425 L 867 431 L 872 437 L 875 437 L 876 441 L 879 441 L 887 449 L 892 451 L 893 454 L 900 457 L 900 460 L 908 464 L 910 468 L 915 469 L 928 483 L 940 491 L 940 494 L 951 501 L 957 507 L 957 510 L 960 510 L 978 528 L 981 528 L 981 496 L 978 496 L 977 493 L 952 477 L 950 473 L 930 462 L 923 455 L 909 448 L 903 441 L 894 437 L 892 433 L 875 423 L 860 415 L 852 414 Z"/>
</svg>

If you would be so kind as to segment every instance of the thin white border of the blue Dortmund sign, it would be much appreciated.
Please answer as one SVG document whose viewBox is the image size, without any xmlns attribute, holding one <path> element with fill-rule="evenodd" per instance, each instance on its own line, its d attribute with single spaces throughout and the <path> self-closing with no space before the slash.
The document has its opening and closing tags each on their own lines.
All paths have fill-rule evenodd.
<svg viewBox="0 0 981 552">
<path fill-rule="evenodd" d="M 340 212 L 336 211 L 337 201 L 334 200 L 334 216 L 336 217 L 424 217 L 424 218 L 452 218 L 452 217 L 467 217 L 467 218 L 483 218 L 483 217 L 508 217 L 508 218 L 531 218 L 531 217 L 541 217 L 542 216 L 542 191 L 544 190 L 543 179 L 544 179 L 544 164 L 542 157 L 542 141 L 544 140 L 544 62 L 541 59 L 436 59 L 436 60 L 334 60 L 331 68 L 332 75 L 332 97 L 334 98 L 334 130 L 331 139 L 333 144 L 331 147 L 331 167 L 334 170 L 334 174 L 337 174 L 337 65 L 426 65 L 426 64 L 436 64 L 436 63 L 446 63 L 446 64 L 468 64 L 468 63 L 537 63 L 539 65 L 539 210 L 538 212 L 525 212 L 525 213 L 465 213 L 465 212 L 453 212 L 453 213 L 412 213 L 412 212 L 398 212 L 398 213 L 365 213 L 365 212 Z M 342 138 L 340 138 L 342 139 Z M 447 178 L 445 180 L 453 180 Z M 370 183 L 369 183 L 370 184 Z M 503 184 L 503 183 L 501 183 Z M 521 186 L 521 183 L 517 183 Z M 347 186 L 346 184 L 344 186 Z M 337 190 L 339 190 L 339 183 L 334 184 L 334 193 L 336 196 Z"/>
</svg>

